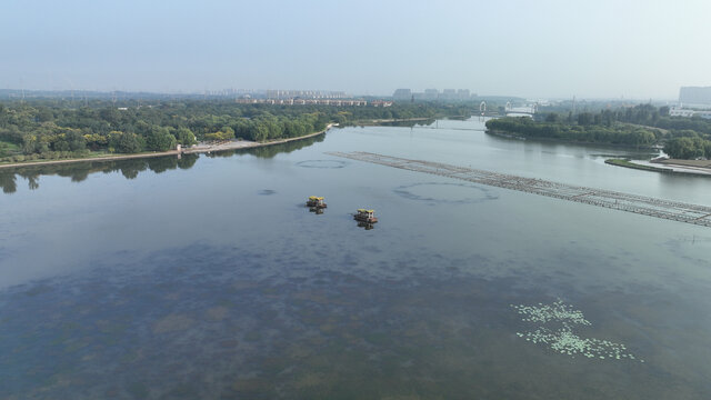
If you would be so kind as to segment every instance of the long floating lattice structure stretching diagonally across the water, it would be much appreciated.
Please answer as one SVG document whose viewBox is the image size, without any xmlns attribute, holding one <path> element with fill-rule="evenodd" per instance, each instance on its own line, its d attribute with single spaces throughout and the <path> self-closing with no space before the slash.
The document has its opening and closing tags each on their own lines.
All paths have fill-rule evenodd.
<svg viewBox="0 0 711 400">
<path fill-rule="evenodd" d="M 330 151 L 327 152 L 327 154 L 711 228 L 711 207 L 705 206 L 578 187 L 440 162 L 409 160 L 371 152 Z"/>
</svg>

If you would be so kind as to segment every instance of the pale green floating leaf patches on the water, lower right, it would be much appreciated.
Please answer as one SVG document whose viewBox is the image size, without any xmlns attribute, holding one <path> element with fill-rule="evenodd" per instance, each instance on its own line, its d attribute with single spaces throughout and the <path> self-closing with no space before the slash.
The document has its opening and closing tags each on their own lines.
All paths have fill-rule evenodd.
<svg viewBox="0 0 711 400">
<path fill-rule="evenodd" d="M 572 306 L 564 304 L 558 300 L 552 304 L 538 303 L 538 306 L 514 306 L 511 307 L 523 316 L 525 322 L 544 324 L 529 332 L 517 332 L 519 338 L 524 338 L 532 343 L 548 344 L 552 350 L 561 354 L 582 354 L 587 358 L 600 360 L 630 359 L 635 360 L 634 354 L 629 353 L 624 344 L 611 342 L 609 340 L 585 339 L 573 332 L 574 326 L 591 326 L 582 311 L 575 310 Z M 551 327 L 554 326 L 554 327 Z M 639 360 L 644 362 L 644 360 Z"/>
</svg>

